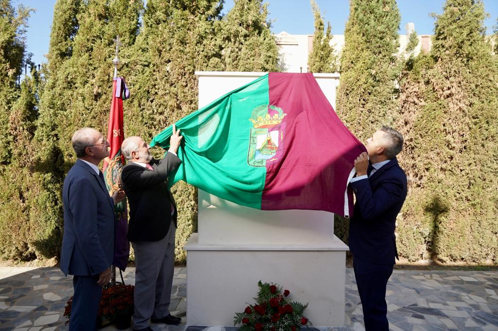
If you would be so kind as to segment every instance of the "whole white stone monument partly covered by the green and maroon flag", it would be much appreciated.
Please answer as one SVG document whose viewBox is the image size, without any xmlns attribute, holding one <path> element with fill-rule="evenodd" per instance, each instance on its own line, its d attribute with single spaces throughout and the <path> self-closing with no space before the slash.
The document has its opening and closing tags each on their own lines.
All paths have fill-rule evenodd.
<svg viewBox="0 0 498 331">
<path fill-rule="evenodd" d="M 199 108 L 265 73 L 199 72 Z M 335 106 L 337 74 L 315 74 Z M 309 303 L 315 327 L 343 326 L 348 246 L 334 235 L 334 214 L 260 211 L 199 190 L 198 233 L 187 244 L 187 325 L 233 326 L 253 304 L 257 282 L 278 283 Z"/>
</svg>

